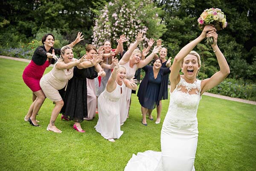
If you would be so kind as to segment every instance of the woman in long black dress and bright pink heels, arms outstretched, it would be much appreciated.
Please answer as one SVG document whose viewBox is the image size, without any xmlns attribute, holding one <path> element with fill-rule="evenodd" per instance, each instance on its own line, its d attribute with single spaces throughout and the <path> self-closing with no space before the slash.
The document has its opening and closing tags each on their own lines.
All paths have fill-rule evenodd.
<svg viewBox="0 0 256 171">
<path fill-rule="evenodd" d="M 105 72 L 100 67 L 101 57 L 97 55 L 97 49 L 93 45 L 86 46 L 85 60 L 74 68 L 74 76 L 67 84 L 64 93 L 64 106 L 62 107 L 61 119 L 73 120 L 73 128 L 81 133 L 85 131 L 81 128 L 81 122 L 87 117 L 87 82 L 86 78 L 97 78 L 98 75 L 105 76 Z M 62 90 L 63 91 L 63 90 Z M 63 94 L 63 92 L 62 92 Z"/>
</svg>

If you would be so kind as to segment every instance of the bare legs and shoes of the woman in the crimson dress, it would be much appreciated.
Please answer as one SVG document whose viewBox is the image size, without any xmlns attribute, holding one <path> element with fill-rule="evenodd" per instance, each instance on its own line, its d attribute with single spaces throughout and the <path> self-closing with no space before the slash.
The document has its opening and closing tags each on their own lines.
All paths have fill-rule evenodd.
<svg viewBox="0 0 256 171">
<path fill-rule="evenodd" d="M 29 107 L 29 111 L 26 115 L 26 118 L 30 118 L 34 125 L 38 125 L 38 124 L 36 124 L 36 114 L 38 113 L 42 104 L 44 103 L 45 95 L 42 90 L 38 90 L 33 93 L 35 94 L 35 96 L 37 96 L 37 98 Z"/>
</svg>

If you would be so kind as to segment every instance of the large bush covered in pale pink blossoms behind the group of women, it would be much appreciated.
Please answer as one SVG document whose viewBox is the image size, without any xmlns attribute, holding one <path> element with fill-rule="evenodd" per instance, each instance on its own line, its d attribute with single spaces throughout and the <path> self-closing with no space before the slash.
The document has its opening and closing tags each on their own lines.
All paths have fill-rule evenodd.
<svg viewBox="0 0 256 171">
<path fill-rule="evenodd" d="M 105 40 L 116 43 L 119 36 L 126 35 L 128 43 L 135 41 L 139 31 L 148 38 L 159 38 L 166 31 L 159 15 L 162 10 L 153 0 L 113 0 L 101 11 L 93 28 L 93 44 L 99 47 Z M 145 38 L 145 42 L 148 40 Z M 145 45 L 145 42 L 143 46 Z"/>
</svg>

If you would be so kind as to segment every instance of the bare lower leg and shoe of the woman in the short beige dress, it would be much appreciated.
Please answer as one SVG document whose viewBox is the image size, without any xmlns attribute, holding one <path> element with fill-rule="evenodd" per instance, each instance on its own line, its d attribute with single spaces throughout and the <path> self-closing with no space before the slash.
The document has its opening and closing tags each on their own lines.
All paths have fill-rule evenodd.
<svg viewBox="0 0 256 171">
<path fill-rule="evenodd" d="M 55 127 L 55 120 L 58 117 L 58 114 L 60 113 L 61 108 L 64 105 L 64 101 L 63 100 L 54 101 L 54 103 L 55 103 L 55 107 L 52 110 L 52 115 L 51 115 L 50 123 L 48 125 L 47 130 L 51 130 L 55 133 L 61 133 L 61 130 L 59 130 L 57 127 Z"/>
</svg>

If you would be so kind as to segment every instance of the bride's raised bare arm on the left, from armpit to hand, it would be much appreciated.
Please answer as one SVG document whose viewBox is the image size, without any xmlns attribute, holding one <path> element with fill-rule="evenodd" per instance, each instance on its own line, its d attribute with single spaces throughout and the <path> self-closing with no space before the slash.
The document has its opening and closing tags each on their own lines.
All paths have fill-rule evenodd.
<svg viewBox="0 0 256 171">
<path fill-rule="evenodd" d="M 196 38 L 195 40 L 191 41 L 188 43 L 186 46 L 184 46 L 182 49 L 180 49 L 180 52 L 175 56 L 174 61 L 172 63 L 172 72 L 170 74 L 170 82 L 171 82 L 171 89 L 173 89 L 178 81 L 180 80 L 180 67 L 181 67 L 181 62 L 182 60 L 186 57 L 186 55 L 189 54 L 189 52 L 194 49 L 194 47 L 200 43 L 205 37 L 206 33 L 208 31 L 215 31 L 216 29 L 213 26 L 205 26 L 204 30 L 202 31 L 201 35 Z"/>
</svg>

